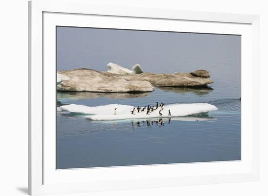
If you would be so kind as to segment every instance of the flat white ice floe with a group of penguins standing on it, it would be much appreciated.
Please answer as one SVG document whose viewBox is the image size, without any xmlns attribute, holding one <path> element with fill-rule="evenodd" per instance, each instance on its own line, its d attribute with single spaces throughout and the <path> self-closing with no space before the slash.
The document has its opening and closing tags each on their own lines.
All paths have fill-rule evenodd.
<svg viewBox="0 0 268 196">
<path fill-rule="evenodd" d="M 218 110 L 217 107 L 209 103 L 176 103 L 165 105 L 164 109 L 161 111 L 162 116 L 159 115 L 160 107 L 154 110 L 149 115 L 146 114 L 146 109 L 144 112 L 135 112 L 135 115 L 131 114 L 134 106 L 130 105 L 119 105 L 119 104 L 109 104 L 96 107 L 89 107 L 85 105 L 64 105 L 60 106 L 63 111 L 69 111 L 71 113 L 82 113 L 89 114 L 86 116 L 91 120 L 121 120 L 121 119 L 135 119 L 135 118 L 170 118 L 170 117 L 186 117 L 189 115 L 207 113 L 210 111 Z M 114 115 L 114 110 L 117 113 Z M 171 116 L 169 116 L 169 110 Z"/>
</svg>

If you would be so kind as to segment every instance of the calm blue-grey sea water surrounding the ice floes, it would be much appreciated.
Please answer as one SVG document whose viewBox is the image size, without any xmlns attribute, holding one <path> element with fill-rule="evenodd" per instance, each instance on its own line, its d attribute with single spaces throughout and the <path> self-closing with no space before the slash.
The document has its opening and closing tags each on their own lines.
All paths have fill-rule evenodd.
<svg viewBox="0 0 268 196">
<path fill-rule="evenodd" d="M 112 61 L 128 68 L 140 63 L 145 71 L 155 73 L 207 69 L 214 80 L 211 89 L 155 87 L 154 92 L 141 94 L 58 92 L 57 105 L 206 102 L 219 109 L 199 116 L 206 121 L 171 118 L 161 123 L 91 121 L 83 115 L 57 113 L 57 169 L 240 160 L 239 36 L 69 27 L 58 27 L 57 36 L 57 70 L 87 67 L 104 71 Z"/>
</svg>

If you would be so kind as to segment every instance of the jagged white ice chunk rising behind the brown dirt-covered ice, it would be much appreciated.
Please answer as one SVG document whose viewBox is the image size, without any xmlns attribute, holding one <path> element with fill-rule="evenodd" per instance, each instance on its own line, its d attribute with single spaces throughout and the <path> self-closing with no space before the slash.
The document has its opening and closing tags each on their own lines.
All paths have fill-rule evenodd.
<svg viewBox="0 0 268 196">
<path fill-rule="evenodd" d="M 109 62 L 107 64 L 107 66 L 108 66 L 107 72 L 110 72 L 113 74 L 124 75 L 124 74 L 141 74 L 141 73 L 143 73 L 143 70 L 141 69 L 141 66 L 139 64 L 135 64 L 132 67 L 132 71 L 127 69 L 127 68 L 121 67 L 120 65 L 117 65 L 115 63 L 112 63 L 112 62 Z"/>
</svg>

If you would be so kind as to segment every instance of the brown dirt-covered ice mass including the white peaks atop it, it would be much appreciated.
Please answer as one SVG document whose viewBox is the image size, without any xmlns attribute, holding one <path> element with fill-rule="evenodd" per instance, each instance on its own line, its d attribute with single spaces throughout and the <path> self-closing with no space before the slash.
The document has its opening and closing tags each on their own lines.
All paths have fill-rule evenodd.
<svg viewBox="0 0 268 196">
<path fill-rule="evenodd" d="M 99 72 L 81 68 L 57 72 L 57 90 L 75 92 L 151 92 L 155 86 L 197 87 L 213 83 L 210 72 L 196 70 L 191 73 L 144 73 L 139 64 L 132 71 L 115 63 L 108 63 L 108 71 Z"/>
</svg>

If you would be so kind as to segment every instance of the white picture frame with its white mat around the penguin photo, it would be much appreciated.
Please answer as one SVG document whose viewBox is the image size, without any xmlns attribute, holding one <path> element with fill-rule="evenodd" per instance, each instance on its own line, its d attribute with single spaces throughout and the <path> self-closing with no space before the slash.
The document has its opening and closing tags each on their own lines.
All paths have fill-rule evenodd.
<svg viewBox="0 0 268 196">
<path fill-rule="evenodd" d="M 172 31 L 173 24 L 179 24 L 175 31 L 242 35 L 241 161 L 56 171 L 55 134 L 53 136 L 56 78 L 49 79 L 55 76 L 55 26 Z M 92 5 L 88 0 L 29 1 L 28 114 L 30 195 L 258 180 L 259 16 Z"/>
</svg>

